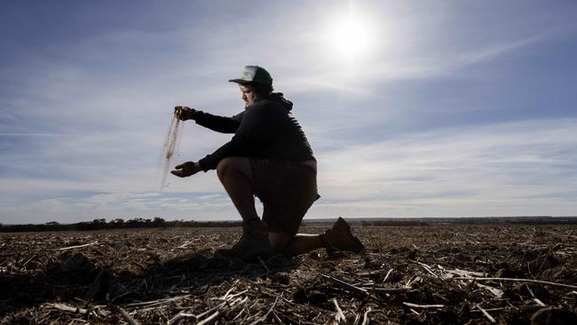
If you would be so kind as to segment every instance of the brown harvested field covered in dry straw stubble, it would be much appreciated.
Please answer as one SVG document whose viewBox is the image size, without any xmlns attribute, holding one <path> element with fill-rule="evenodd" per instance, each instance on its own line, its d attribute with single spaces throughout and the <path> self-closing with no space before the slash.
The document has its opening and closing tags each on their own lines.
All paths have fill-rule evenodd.
<svg viewBox="0 0 577 325">
<path fill-rule="evenodd" d="M 213 257 L 240 232 L 0 234 L 1 322 L 577 323 L 576 226 L 356 226 L 360 255 Z"/>
</svg>

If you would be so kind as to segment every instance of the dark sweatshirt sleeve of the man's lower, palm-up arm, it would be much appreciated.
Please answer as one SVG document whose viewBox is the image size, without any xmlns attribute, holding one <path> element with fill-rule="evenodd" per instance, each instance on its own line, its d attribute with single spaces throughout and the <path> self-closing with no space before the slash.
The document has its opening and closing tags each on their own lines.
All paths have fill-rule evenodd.
<svg viewBox="0 0 577 325">
<path fill-rule="evenodd" d="M 253 107 L 246 111 L 233 139 L 199 161 L 202 170 L 216 170 L 218 163 L 226 157 L 248 156 L 250 148 L 257 145 L 258 138 L 255 136 L 262 129 L 262 120 L 262 107 Z"/>
</svg>

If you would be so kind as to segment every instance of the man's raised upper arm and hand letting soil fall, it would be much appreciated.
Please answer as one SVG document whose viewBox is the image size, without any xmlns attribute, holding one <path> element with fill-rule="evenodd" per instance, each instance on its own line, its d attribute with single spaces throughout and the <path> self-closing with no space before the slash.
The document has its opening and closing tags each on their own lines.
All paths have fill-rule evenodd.
<svg viewBox="0 0 577 325">
<path fill-rule="evenodd" d="M 175 112 L 181 121 L 194 120 L 197 124 L 204 126 L 212 131 L 221 133 L 234 133 L 241 125 L 244 112 L 232 117 L 211 115 L 190 107 L 175 107 Z"/>
</svg>

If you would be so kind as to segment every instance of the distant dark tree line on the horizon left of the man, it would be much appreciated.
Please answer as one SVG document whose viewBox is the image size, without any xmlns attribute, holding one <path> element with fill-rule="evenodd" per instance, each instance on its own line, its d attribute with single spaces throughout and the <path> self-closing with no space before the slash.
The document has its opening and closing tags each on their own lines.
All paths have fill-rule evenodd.
<svg viewBox="0 0 577 325">
<path fill-rule="evenodd" d="M 27 225 L 2 225 L 0 232 L 43 232 L 43 231 L 63 231 L 63 230 L 102 230 L 102 229 L 130 229 L 130 228 L 168 228 L 168 227 L 209 227 L 209 226 L 241 226 L 240 221 L 186 221 L 171 220 L 164 218 L 114 218 L 107 221 L 106 218 L 96 218 L 92 221 L 78 222 L 75 224 L 60 224 L 57 221 L 45 224 Z"/>
</svg>

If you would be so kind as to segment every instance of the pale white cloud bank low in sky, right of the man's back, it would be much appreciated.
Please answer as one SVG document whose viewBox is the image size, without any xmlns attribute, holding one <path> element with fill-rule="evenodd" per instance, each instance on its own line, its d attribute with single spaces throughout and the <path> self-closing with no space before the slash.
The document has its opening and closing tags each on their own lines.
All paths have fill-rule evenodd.
<svg viewBox="0 0 577 325">
<path fill-rule="evenodd" d="M 334 214 L 346 206 L 360 216 L 431 215 L 429 208 L 451 216 L 570 214 L 576 208 L 568 199 L 577 180 L 577 154 L 568 154 L 577 145 L 575 126 L 576 120 L 550 120 L 456 128 L 325 153 L 320 184 L 328 202 L 312 211 Z M 555 197 L 555 203 L 534 197 Z M 411 210 L 396 210 L 399 204 Z"/>
</svg>

